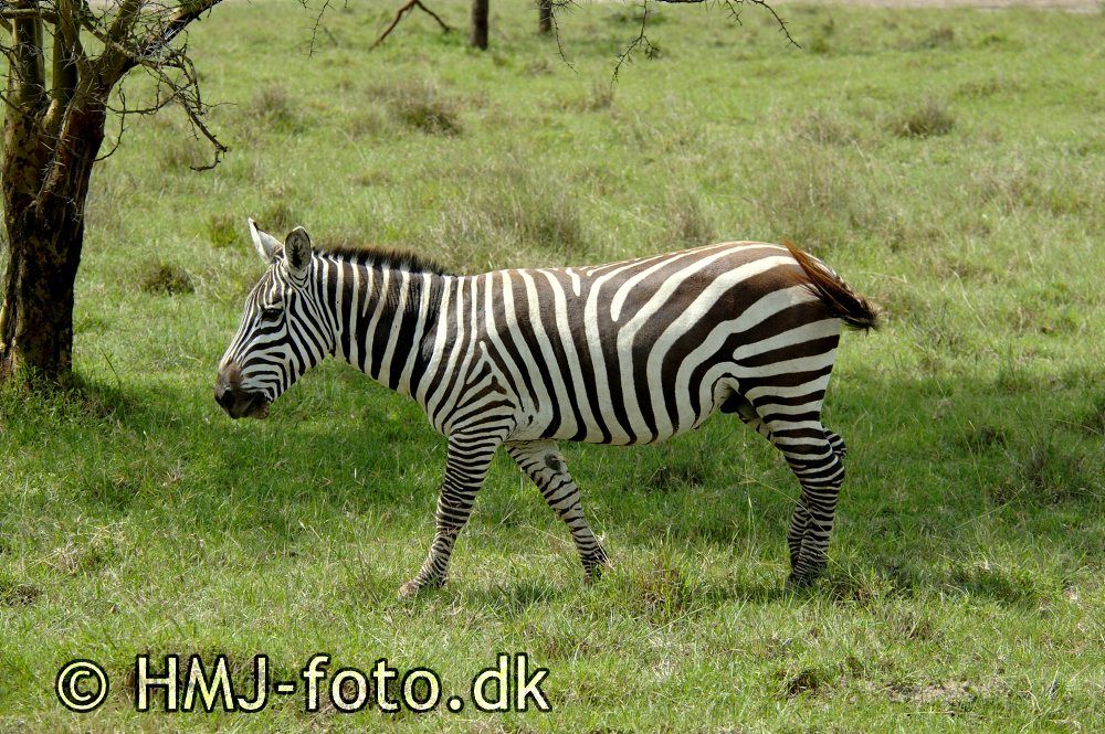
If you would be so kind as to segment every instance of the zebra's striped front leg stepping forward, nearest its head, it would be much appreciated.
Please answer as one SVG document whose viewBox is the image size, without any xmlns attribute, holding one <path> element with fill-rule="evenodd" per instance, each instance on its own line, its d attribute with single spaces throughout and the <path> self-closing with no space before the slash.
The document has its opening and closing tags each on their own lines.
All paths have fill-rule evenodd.
<svg viewBox="0 0 1105 734">
<path fill-rule="evenodd" d="M 435 514 L 435 533 L 425 563 L 414 578 L 399 588 L 399 596 L 414 596 L 427 587 L 445 583 L 453 545 L 469 515 L 476 492 L 483 485 L 501 439 L 488 436 L 453 435 L 449 437 L 445 478 L 441 482 Z"/>
</svg>

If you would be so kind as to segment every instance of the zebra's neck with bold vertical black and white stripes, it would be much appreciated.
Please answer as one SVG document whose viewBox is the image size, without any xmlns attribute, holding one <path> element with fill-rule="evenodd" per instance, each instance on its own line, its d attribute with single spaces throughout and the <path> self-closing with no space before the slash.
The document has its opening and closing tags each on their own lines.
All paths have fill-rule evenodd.
<svg viewBox="0 0 1105 734">
<path fill-rule="evenodd" d="M 335 357 L 410 395 L 428 366 L 422 344 L 436 328 L 443 277 L 325 258 L 322 281 L 330 291 L 324 300 L 333 308 Z"/>
</svg>

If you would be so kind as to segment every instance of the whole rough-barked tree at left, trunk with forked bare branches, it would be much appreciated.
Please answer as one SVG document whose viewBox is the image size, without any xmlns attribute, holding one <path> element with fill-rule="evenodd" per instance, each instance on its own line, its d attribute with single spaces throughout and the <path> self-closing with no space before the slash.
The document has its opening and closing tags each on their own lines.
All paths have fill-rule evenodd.
<svg viewBox="0 0 1105 734">
<path fill-rule="evenodd" d="M 84 211 L 104 141 L 115 85 L 133 68 L 167 89 L 149 109 L 180 103 L 199 116 L 194 72 L 168 44 L 219 0 L 160 4 L 123 0 L 92 12 L 80 0 L 17 0 L 0 6 L 9 41 L 4 150 L 0 161 L 8 269 L 0 301 L 0 381 L 64 385 L 73 364 L 74 286 L 84 244 Z M 86 54 L 82 34 L 103 44 Z M 46 75 L 44 40 L 52 39 Z M 169 73 L 167 70 L 172 70 Z"/>
</svg>

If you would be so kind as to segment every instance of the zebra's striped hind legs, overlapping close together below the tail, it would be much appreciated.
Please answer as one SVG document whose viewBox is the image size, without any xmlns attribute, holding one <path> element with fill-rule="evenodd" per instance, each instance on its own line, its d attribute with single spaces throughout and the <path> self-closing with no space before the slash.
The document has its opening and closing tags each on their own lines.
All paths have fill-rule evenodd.
<svg viewBox="0 0 1105 734">
<path fill-rule="evenodd" d="M 793 416 L 803 417 L 807 416 Z M 811 584 L 828 564 L 829 538 L 836 514 L 836 499 L 844 482 L 844 442 L 825 430 L 820 421 L 788 421 L 769 416 L 769 440 L 778 448 L 802 488 L 787 533 L 790 547 L 789 584 Z"/>
</svg>

